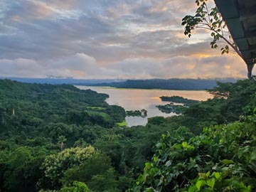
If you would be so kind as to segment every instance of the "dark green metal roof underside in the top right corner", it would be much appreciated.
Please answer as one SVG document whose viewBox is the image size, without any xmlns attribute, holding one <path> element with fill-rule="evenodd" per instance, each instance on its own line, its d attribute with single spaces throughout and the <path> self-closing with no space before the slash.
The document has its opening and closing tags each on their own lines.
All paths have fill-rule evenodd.
<svg viewBox="0 0 256 192">
<path fill-rule="evenodd" d="M 215 0 L 247 65 L 256 60 L 256 0 Z"/>
</svg>

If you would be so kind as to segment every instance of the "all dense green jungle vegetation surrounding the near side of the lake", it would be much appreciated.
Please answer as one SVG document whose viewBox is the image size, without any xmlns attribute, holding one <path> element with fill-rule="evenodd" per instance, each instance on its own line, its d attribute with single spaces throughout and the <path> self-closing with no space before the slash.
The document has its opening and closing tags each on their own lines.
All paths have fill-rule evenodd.
<svg viewBox="0 0 256 192">
<path fill-rule="evenodd" d="M 256 85 L 125 127 L 107 95 L 0 80 L 0 191 L 255 191 Z"/>
</svg>

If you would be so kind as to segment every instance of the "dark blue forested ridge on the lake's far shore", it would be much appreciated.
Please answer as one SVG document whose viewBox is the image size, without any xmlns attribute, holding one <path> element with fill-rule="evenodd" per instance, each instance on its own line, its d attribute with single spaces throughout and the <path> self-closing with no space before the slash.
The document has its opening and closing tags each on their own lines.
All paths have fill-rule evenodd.
<svg viewBox="0 0 256 192">
<path fill-rule="evenodd" d="M 124 82 L 96 83 L 92 86 L 137 88 L 137 89 L 163 89 L 163 90 L 206 90 L 217 85 L 217 82 L 235 82 L 235 79 L 153 79 L 153 80 L 127 80 Z"/>
</svg>

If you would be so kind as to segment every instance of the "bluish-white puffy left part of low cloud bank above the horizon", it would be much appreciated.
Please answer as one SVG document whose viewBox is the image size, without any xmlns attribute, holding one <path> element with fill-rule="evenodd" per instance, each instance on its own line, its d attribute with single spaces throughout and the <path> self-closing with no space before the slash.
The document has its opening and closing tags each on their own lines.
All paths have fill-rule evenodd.
<svg viewBox="0 0 256 192">
<path fill-rule="evenodd" d="M 18 58 L 15 60 L 0 60 L 1 76 L 22 76 L 23 74 L 33 77 L 39 75 L 73 77 L 81 75 L 95 75 L 100 73 L 96 60 L 84 53 L 77 53 L 68 58 L 59 58 L 57 60 L 48 60 L 48 63 L 40 63 L 36 60 Z"/>
</svg>

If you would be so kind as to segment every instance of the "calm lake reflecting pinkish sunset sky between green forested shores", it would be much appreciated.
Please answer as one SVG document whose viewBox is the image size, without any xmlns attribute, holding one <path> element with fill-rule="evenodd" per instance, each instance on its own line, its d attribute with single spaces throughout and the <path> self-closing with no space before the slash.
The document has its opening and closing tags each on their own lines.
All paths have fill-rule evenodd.
<svg viewBox="0 0 256 192">
<path fill-rule="evenodd" d="M 136 125 L 145 125 L 147 118 L 163 116 L 170 117 L 176 115 L 175 113 L 166 114 L 161 112 L 156 105 L 166 105 L 169 102 L 163 102 L 159 97 L 161 96 L 181 96 L 191 100 L 208 100 L 211 95 L 202 90 L 143 90 L 143 89 L 117 89 L 113 87 L 89 87 L 89 86 L 75 86 L 81 90 L 94 90 L 99 93 L 106 93 L 110 95 L 106 102 L 110 105 L 119 105 L 124 110 L 147 110 L 147 117 L 126 117 L 129 127 Z"/>
</svg>

